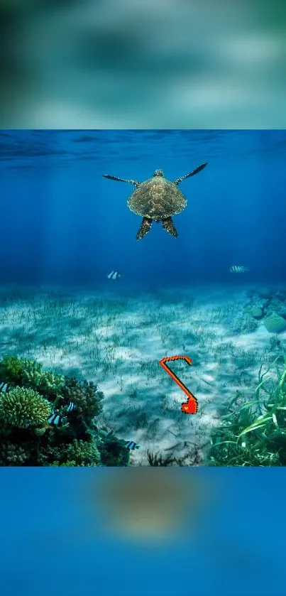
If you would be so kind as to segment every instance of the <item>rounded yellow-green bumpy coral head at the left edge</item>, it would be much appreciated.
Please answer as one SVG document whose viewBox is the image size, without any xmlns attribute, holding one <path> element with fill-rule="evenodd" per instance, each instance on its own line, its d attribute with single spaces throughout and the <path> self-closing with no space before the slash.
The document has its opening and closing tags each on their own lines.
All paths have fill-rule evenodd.
<svg viewBox="0 0 286 596">
<path fill-rule="evenodd" d="M 0 418 L 17 428 L 47 423 L 52 408 L 47 399 L 33 389 L 15 387 L 0 394 Z"/>
</svg>

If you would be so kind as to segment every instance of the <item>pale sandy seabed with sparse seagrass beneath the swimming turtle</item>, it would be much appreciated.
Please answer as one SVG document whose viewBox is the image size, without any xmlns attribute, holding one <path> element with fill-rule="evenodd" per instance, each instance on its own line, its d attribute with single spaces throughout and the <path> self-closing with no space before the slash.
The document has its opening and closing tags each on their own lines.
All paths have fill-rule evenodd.
<svg viewBox="0 0 286 596">
<path fill-rule="evenodd" d="M 153 291 L 106 282 L 100 288 L 0 288 L 0 354 L 35 358 L 44 367 L 94 381 L 104 392 L 99 426 L 141 448 L 131 465 L 148 465 L 147 452 L 199 463 L 221 409 L 240 391 L 255 394 L 261 365 L 286 348 L 286 332 L 263 319 L 243 329 L 252 301 L 271 312 L 273 286 L 192 286 Z M 263 297 L 264 296 L 264 297 Z M 286 296 L 286 294 L 285 294 Z M 286 300 L 285 300 L 286 303 Z M 181 411 L 187 397 L 159 365 L 170 367 L 196 396 L 195 416 Z"/>
</svg>

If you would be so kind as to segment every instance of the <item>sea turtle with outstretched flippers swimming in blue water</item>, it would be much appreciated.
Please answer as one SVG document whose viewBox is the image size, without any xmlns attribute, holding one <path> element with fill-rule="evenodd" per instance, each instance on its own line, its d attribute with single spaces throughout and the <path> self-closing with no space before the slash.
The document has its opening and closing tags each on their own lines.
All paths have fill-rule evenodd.
<svg viewBox="0 0 286 596">
<path fill-rule="evenodd" d="M 198 166 L 189 174 L 176 178 L 174 182 L 164 178 L 163 170 L 155 170 L 153 177 L 142 183 L 138 180 L 116 178 L 116 176 L 110 176 L 109 174 L 103 174 L 103 177 L 110 180 L 119 180 L 119 182 L 128 182 L 135 187 L 128 198 L 127 205 L 131 211 L 143 217 L 136 240 L 141 240 L 147 232 L 150 232 L 153 220 L 162 222 L 163 228 L 177 238 L 177 230 L 172 221 L 172 215 L 177 215 L 187 205 L 186 197 L 177 187 L 182 180 L 194 176 L 206 166 L 207 163 L 202 163 L 201 166 Z"/>
</svg>

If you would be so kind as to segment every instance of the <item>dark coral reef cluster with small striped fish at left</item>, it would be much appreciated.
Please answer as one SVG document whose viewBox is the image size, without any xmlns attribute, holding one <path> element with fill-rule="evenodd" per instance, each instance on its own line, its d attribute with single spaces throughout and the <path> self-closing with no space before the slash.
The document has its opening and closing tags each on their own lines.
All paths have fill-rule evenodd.
<svg viewBox="0 0 286 596">
<path fill-rule="evenodd" d="M 124 441 L 95 424 L 102 391 L 35 360 L 0 362 L 0 466 L 126 466 Z"/>
</svg>

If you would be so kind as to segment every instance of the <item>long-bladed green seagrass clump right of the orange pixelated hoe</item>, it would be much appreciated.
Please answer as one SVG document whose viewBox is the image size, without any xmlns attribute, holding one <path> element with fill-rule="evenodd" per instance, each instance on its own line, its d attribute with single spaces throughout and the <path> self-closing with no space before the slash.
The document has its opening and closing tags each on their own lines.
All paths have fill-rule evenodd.
<svg viewBox="0 0 286 596">
<path fill-rule="evenodd" d="M 228 406 L 230 413 L 211 434 L 209 465 L 286 465 L 286 357 L 282 369 L 280 360 L 275 358 L 263 373 L 261 365 L 252 401 L 237 392 Z M 273 369 L 275 381 L 269 376 Z"/>
</svg>

